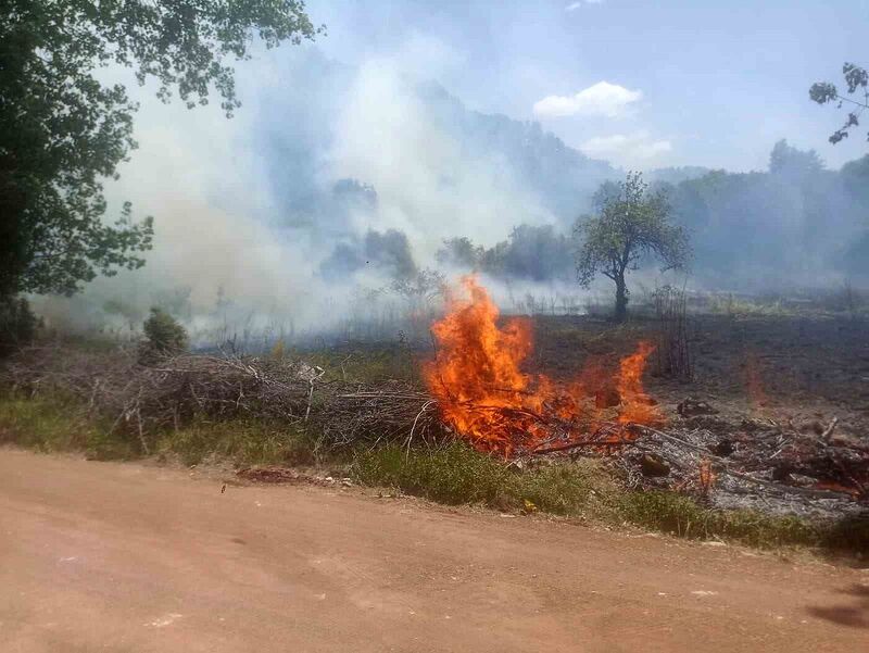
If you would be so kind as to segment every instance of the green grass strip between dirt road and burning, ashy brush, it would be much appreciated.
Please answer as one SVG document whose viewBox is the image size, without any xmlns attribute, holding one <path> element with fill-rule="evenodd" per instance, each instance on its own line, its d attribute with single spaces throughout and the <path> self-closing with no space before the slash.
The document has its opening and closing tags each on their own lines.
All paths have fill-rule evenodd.
<svg viewBox="0 0 869 653">
<path fill-rule="evenodd" d="M 433 450 L 389 445 L 360 453 L 352 473 L 360 482 L 442 503 L 540 510 L 629 523 L 681 538 L 723 539 L 763 549 L 865 551 L 869 545 L 867 517 L 813 523 L 747 510 L 711 510 L 676 492 L 626 491 L 600 463 L 590 460 L 519 472 L 462 442 Z"/>
</svg>

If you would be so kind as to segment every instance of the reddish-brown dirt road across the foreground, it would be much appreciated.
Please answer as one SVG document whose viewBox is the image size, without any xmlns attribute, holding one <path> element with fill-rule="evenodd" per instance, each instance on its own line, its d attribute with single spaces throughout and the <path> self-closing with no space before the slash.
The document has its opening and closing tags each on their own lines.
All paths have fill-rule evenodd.
<svg viewBox="0 0 869 653">
<path fill-rule="evenodd" d="M 0 450 L 0 650 L 869 650 L 867 570 L 221 485 Z"/>
</svg>

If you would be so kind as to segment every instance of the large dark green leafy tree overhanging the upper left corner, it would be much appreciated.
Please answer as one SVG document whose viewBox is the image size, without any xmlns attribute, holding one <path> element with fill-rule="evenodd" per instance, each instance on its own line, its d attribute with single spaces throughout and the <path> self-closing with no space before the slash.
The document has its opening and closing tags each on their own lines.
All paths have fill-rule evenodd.
<svg viewBox="0 0 869 653">
<path fill-rule="evenodd" d="M 320 28 L 322 29 L 322 28 Z M 103 180 L 136 147 L 137 105 L 100 67 L 155 78 L 188 106 L 239 106 L 228 59 L 254 35 L 267 47 L 315 29 L 300 0 L 8 0 L 0 12 L 0 297 L 71 294 L 98 273 L 137 268 L 152 221 L 103 222 Z"/>
</svg>

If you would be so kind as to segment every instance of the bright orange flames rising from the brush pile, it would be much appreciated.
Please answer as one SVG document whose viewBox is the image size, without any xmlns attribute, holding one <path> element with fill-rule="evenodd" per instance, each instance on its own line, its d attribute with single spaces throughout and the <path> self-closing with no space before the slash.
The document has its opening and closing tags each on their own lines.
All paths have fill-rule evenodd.
<svg viewBox="0 0 869 653">
<path fill-rule="evenodd" d="M 450 292 L 446 315 L 431 327 L 438 352 L 423 368 L 445 422 L 476 447 L 505 453 L 556 439 L 578 440 L 596 429 L 604 410 L 595 401 L 597 388 L 590 387 L 596 375 L 585 371 L 564 385 L 524 373 L 521 364 L 533 349 L 530 321 L 512 318 L 499 327 L 500 313 L 486 288 L 473 275 L 462 285 L 467 296 Z M 607 379 L 620 398 L 621 425 L 660 420 L 642 387 L 652 351 L 640 343 L 615 378 Z"/>
</svg>

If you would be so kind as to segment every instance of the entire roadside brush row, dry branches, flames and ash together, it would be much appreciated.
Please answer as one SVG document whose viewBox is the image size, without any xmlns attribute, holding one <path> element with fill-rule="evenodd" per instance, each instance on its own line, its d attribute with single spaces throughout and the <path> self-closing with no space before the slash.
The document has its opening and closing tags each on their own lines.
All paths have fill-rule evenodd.
<svg viewBox="0 0 869 653">
<path fill-rule="evenodd" d="M 721 507 L 832 515 L 869 501 L 869 445 L 836 437 L 834 422 L 806 435 L 768 419 L 726 419 L 702 401 L 665 419 L 642 385 L 648 343 L 570 382 L 529 374 L 530 322 L 501 321 L 475 277 L 448 297 L 431 331 L 421 386 L 358 382 L 269 356 L 185 354 L 142 365 L 135 352 L 56 347 L 20 352 L 0 381 L 74 398 L 143 453 L 191 419 L 249 416 L 315 434 L 323 451 L 462 438 L 517 466 L 600 456 L 632 487 L 675 489 Z"/>
</svg>

